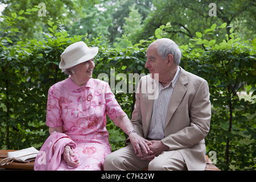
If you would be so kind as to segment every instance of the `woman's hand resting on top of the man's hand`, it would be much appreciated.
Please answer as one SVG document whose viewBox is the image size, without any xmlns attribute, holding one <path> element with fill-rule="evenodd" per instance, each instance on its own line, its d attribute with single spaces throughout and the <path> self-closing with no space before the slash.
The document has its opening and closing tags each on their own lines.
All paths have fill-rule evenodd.
<svg viewBox="0 0 256 182">
<path fill-rule="evenodd" d="M 148 154 L 150 151 L 150 144 L 151 142 L 149 140 L 146 140 L 139 136 L 137 133 L 131 133 L 129 135 L 130 142 L 133 144 L 133 148 L 135 151 L 135 154 L 142 155 L 142 154 Z"/>
</svg>

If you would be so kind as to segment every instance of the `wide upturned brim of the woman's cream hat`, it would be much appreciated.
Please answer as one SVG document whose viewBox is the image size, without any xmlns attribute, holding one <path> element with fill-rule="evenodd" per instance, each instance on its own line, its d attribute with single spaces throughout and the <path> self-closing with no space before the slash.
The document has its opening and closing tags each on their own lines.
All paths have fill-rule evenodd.
<svg viewBox="0 0 256 182">
<path fill-rule="evenodd" d="M 90 47 L 89 51 L 88 51 L 88 53 L 86 53 L 86 55 L 80 57 L 79 59 L 77 59 L 69 64 L 65 64 L 65 62 L 63 61 L 63 59 L 61 57 L 59 68 L 60 69 L 68 69 L 68 68 L 74 67 L 77 64 L 84 63 L 85 61 L 93 59 L 93 57 L 95 57 L 97 55 L 97 53 L 98 53 L 97 47 Z"/>
</svg>

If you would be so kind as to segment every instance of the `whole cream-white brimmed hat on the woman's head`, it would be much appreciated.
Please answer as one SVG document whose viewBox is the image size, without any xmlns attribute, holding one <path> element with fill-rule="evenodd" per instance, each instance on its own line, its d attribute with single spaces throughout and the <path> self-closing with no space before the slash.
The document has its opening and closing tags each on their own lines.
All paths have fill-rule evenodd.
<svg viewBox="0 0 256 182">
<path fill-rule="evenodd" d="M 59 68 L 67 69 L 93 59 L 98 53 L 97 47 L 88 47 L 84 42 L 76 42 L 68 46 L 60 55 Z"/>
</svg>

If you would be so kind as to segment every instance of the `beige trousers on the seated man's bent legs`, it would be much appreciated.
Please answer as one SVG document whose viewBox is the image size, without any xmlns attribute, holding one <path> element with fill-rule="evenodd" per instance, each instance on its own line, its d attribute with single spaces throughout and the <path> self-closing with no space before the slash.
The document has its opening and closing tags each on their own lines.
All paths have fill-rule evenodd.
<svg viewBox="0 0 256 182">
<path fill-rule="evenodd" d="M 184 171 L 187 170 L 183 156 L 179 151 L 164 151 L 151 161 L 141 160 L 134 152 L 133 146 L 123 147 L 106 156 L 105 171 Z"/>
</svg>

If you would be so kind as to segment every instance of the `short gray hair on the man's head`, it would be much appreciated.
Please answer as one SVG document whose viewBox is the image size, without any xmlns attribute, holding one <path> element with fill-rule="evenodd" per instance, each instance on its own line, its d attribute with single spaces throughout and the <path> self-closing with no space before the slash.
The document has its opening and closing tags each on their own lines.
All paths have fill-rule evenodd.
<svg viewBox="0 0 256 182">
<path fill-rule="evenodd" d="M 176 65 L 180 64 L 181 51 L 174 41 L 172 41 L 171 39 L 163 38 L 158 39 L 155 42 L 158 43 L 156 49 L 162 59 L 166 59 L 166 56 L 171 54 L 172 56 L 174 56 L 174 63 Z"/>
</svg>

